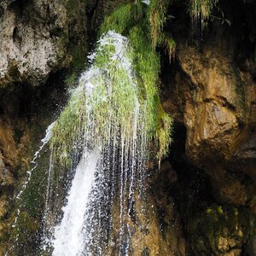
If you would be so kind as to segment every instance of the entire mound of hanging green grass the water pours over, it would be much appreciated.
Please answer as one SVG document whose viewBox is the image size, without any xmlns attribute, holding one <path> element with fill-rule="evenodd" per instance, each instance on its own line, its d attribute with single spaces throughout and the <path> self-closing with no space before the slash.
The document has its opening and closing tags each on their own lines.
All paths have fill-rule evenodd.
<svg viewBox="0 0 256 256">
<path fill-rule="evenodd" d="M 156 6 L 155 1 L 149 7 L 143 3 L 128 3 L 104 20 L 100 29 L 103 36 L 87 72 L 96 73 L 86 82 L 89 81 L 94 90 L 88 94 L 83 89 L 82 77 L 80 83 L 83 86 L 73 92 L 57 120 L 51 141 L 56 160 L 69 163 L 67 159 L 88 125 L 94 125 L 90 147 L 109 143 L 117 133 L 129 145 L 135 136 L 132 125 L 135 122 L 137 127 L 144 127 L 145 140 L 148 143 L 154 141 L 158 160 L 167 154 L 172 141 L 172 118 L 160 104 L 160 55 L 155 46 L 164 40 L 172 54 L 175 44 L 162 33 L 167 1 L 160 3 L 161 14 L 155 13 Z M 154 22 L 154 15 L 155 19 L 163 20 Z M 150 16 L 151 20 L 148 20 Z M 158 42 L 155 41 L 156 34 L 161 38 Z M 119 40 L 123 40 L 122 49 L 116 44 Z M 136 116 L 138 106 L 140 113 Z M 93 116 L 93 124 L 86 123 L 88 115 Z"/>
</svg>

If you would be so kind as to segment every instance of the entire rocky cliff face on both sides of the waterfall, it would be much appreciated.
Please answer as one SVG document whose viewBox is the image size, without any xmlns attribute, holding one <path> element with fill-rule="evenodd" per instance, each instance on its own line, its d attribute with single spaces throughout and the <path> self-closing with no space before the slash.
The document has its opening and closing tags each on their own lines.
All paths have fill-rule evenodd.
<svg viewBox="0 0 256 256">
<path fill-rule="evenodd" d="M 64 87 L 57 87 L 62 81 L 52 81 L 50 74 L 84 65 L 96 26 L 127 1 L 0 1 L 1 255 L 9 247 L 14 218 L 10 198 L 56 103 L 65 98 Z M 137 237 L 132 242 L 141 255 L 254 256 L 256 3 L 218 1 L 225 16 L 214 14 L 203 32 L 180 5 L 177 1 L 169 10 L 175 19 L 166 27 L 176 41 L 176 57 L 171 64 L 163 61 L 161 73 L 163 107 L 174 116 L 174 143 L 151 181 L 150 230 L 135 233 L 147 242 L 142 245 Z M 35 246 L 30 236 L 23 236 L 23 255 Z"/>
</svg>

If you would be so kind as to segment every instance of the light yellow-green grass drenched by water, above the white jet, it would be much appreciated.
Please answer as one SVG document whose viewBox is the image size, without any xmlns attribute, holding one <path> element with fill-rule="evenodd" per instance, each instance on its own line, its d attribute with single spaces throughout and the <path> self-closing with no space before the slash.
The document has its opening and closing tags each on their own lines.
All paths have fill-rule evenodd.
<svg viewBox="0 0 256 256">
<path fill-rule="evenodd" d="M 121 131 L 125 142 L 131 141 L 137 87 L 132 85 L 135 81 L 120 64 L 119 56 L 113 59 L 117 49 L 111 41 L 108 43 L 100 44 L 96 49 L 96 59 L 91 72 L 97 72 L 97 75 L 90 79 L 95 89 L 88 94 L 84 90 L 84 84 L 81 84 L 73 92 L 67 107 L 55 124 L 51 146 L 54 159 L 60 160 L 62 164 L 70 164 L 67 156 L 72 154 L 74 143 L 79 142 L 84 135 L 86 126 L 93 125 L 90 129 L 93 131 L 90 141 L 92 148 L 111 141 L 113 135 L 110 129 L 116 133 Z M 128 45 L 124 55 L 122 57 L 125 58 L 130 55 Z M 90 106 L 90 111 L 86 106 Z M 94 119 L 92 124 L 91 116 Z"/>
</svg>

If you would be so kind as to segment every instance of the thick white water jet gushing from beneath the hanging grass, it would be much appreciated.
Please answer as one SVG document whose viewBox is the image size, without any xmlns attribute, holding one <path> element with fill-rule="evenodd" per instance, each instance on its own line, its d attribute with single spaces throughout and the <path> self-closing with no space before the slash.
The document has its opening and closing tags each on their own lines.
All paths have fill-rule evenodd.
<svg viewBox="0 0 256 256">
<path fill-rule="evenodd" d="M 67 206 L 63 207 L 61 224 L 55 229 L 53 255 L 80 255 L 84 244 L 84 213 L 92 189 L 99 154 L 84 149 L 76 168 L 72 187 L 67 195 Z"/>
</svg>

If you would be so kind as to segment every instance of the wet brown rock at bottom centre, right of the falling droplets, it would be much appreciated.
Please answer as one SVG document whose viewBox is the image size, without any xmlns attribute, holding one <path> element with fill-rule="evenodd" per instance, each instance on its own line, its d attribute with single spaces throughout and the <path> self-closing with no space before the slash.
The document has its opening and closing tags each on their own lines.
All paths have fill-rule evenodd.
<svg viewBox="0 0 256 256">
<path fill-rule="evenodd" d="M 148 183 L 145 184 L 147 192 L 142 196 L 135 191 L 132 214 L 125 220 L 131 232 L 129 255 L 186 255 L 182 220 L 172 197 L 170 183 L 177 183 L 177 173 L 172 170 L 170 162 L 165 161 L 160 171 L 148 173 Z M 119 244 L 118 200 L 117 197 L 112 207 L 113 226 L 117 228 L 111 232 L 106 255 L 119 254 L 119 247 L 116 246 Z"/>
</svg>

